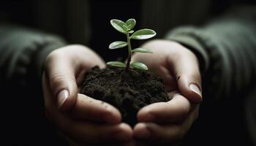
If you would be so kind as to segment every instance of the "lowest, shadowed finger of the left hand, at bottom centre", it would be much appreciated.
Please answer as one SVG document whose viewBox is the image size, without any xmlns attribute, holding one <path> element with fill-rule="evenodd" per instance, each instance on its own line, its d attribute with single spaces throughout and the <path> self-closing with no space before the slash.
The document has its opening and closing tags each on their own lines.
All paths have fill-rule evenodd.
<svg viewBox="0 0 256 146">
<path fill-rule="evenodd" d="M 75 122 L 64 133 L 83 144 L 121 143 L 132 139 L 132 128 L 126 123 L 105 125 Z"/>
</svg>

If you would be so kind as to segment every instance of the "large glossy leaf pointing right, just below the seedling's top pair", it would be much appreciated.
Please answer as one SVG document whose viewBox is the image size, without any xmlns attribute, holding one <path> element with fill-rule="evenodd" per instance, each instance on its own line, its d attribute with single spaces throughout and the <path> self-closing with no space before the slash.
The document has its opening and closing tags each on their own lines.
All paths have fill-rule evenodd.
<svg viewBox="0 0 256 146">
<path fill-rule="evenodd" d="M 151 29 L 140 29 L 135 31 L 134 34 L 130 37 L 131 39 L 149 39 L 154 37 L 157 33 Z"/>
</svg>

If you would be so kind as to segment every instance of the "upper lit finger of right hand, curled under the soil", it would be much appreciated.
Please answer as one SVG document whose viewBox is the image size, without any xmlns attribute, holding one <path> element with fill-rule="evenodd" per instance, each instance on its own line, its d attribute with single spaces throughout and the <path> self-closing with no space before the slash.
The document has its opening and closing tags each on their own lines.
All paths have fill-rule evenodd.
<svg viewBox="0 0 256 146">
<path fill-rule="evenodd" d="M 157 102 L 143 107 L 138 112 L 138 121 L 154 123 L 180 123 L 191 111 L 192 105 L 179 93 L 167 102 Z"/>
</svg>

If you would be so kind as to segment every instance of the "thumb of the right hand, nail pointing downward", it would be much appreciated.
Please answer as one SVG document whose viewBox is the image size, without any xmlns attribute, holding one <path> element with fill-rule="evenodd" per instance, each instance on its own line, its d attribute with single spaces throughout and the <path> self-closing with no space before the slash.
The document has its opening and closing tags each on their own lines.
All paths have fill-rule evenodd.
<svg viewBox="0 0 256 146">
<path fill-rule="evenodd" d="M 182 50 L 167 58 L 170 72 L 178 82 L 178 89 L 192 103 L 202 101 L 201 77 L 197 58 L 190 50 Z"/>
</svg>

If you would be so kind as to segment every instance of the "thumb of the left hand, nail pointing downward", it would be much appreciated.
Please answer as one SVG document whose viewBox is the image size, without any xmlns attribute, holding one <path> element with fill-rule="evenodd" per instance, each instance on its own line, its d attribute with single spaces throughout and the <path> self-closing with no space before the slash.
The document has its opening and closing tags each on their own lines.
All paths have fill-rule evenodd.
<svg viewBox="0 0 256 146">
<path fill-rule="evenodd" d="M 78 97 L 74 68 L 67 60 L 58 57 L 45 62 L 45 74 L 60 110 L 71 109 Z"/>
</svg>

